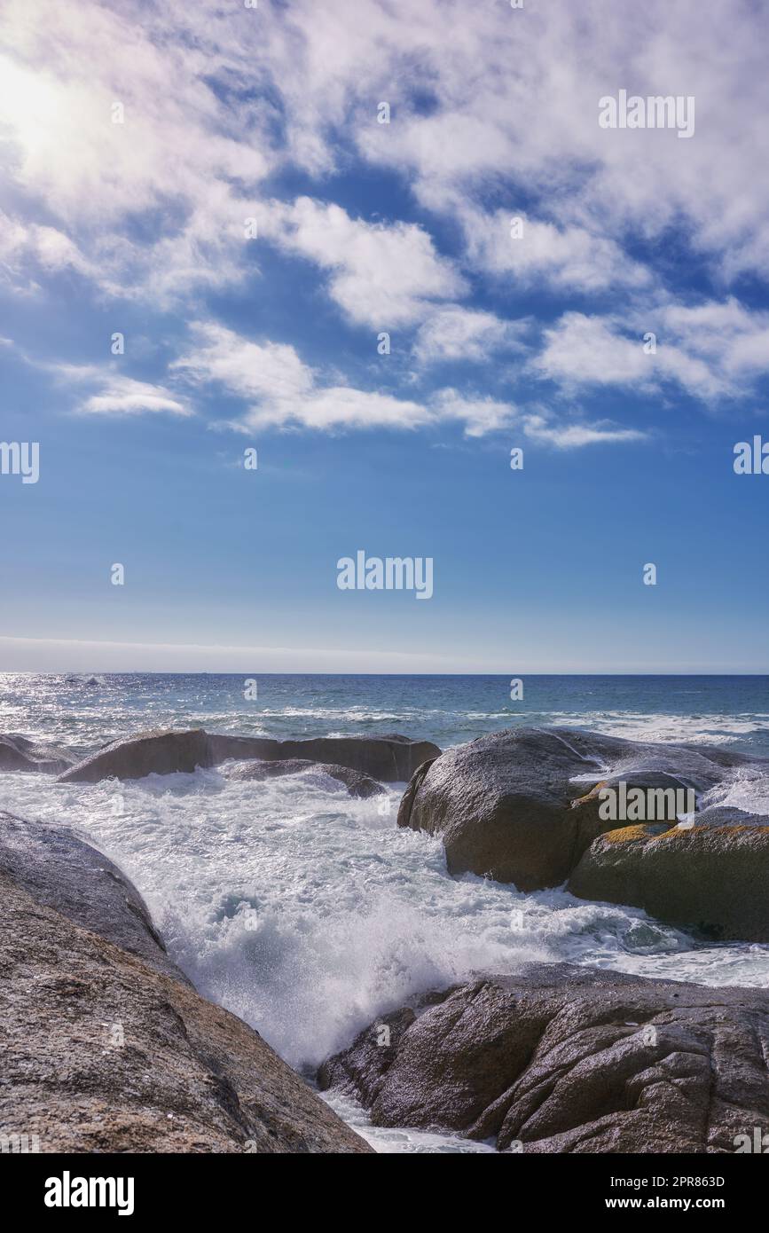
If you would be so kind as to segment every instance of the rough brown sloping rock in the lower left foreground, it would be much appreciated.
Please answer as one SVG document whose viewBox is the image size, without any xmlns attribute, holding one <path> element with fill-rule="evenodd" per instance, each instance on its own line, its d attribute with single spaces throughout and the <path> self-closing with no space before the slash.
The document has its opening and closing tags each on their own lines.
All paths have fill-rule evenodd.
<svg viewBox="0 0 769 1233">
<path fill-rule="evenodd" d="M 4 819 L 0 837 L 4 1134 L 67 1153 L 371 1150 L 157 935 L 142 941 L 145 909 L 110 862 L 23 827 Z"/>
</svg>

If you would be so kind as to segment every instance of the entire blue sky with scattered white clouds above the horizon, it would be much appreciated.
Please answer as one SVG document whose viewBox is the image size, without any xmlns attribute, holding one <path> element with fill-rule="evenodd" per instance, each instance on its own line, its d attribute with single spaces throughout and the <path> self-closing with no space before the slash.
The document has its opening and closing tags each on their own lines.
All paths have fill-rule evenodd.
<svg viewBox="0 0 769 1233">
<path fill-rule="evenodd" d="M 0 670 L 769 671 L 768 27 L 6 4 Z"/>
</svg>

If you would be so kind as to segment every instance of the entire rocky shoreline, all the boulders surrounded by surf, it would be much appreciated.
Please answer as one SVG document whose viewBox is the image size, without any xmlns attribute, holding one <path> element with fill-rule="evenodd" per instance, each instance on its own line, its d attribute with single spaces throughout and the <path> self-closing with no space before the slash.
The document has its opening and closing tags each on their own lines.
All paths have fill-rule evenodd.
<svg viewBox="0 0 769 1233">
<path fill-rule="evenodd" d="M 445 753 L 397 735 L 274 741 L 139 734 L 76 760 L 18 735 L 0 769 L 62 783 L 221 768 L 317 769 L 352 795 L 408 782 L 398 825 L 440 835 L 450 873 L 564 885 L 695 935 L 769 941 L 765 819 L 702 798 L 760 760 L 566 729 L 516 729 Z M 765 761 L 763 766 L 765 766 Z M 698 810 L 606 820 L 601 790 L 678 788 Z M 41 1150 L 371 1148 L 165 952 L 136 888 L 71 832 L 0 814 L 6 1060 L 0 1128 Z M 731 1152 L 769 1123 L 769 993 L 569 964 L 437 990 L 361 1032 L 319 1070 L 378 1126 L 450 1131 L 503 1152 Z"/>
</svg>

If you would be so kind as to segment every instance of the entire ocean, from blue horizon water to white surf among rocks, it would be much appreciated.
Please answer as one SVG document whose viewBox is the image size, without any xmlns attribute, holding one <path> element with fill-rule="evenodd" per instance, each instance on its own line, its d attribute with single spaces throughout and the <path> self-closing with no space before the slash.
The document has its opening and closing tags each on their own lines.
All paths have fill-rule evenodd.
<svg viewBox="0 0 769 1233">
<path fill-rule="evenodd" d="M 277 737 L 403 732 L 446 748 L 524 724 L 769 757 L 768 677 L 0 676 L 0 731 L 78 752 L 149 727 Z M 248 684 L 251 682 L 251 684 Z M 250 697 L 246 697 L 250 694 Z M 256 697 L 254 697 L 254 694 Z M 769 946 L 704 944 L 643 911 L 563 890 L 446 873 L 440 840 L 396 826 L 403 785 L 354 800 L 309 771 L 230 782 L 218 769 L 99 784 L 0 776 L 0 808 L 74 827 L 144 895 L 206 996 L 311 1073 L 372 1018 L 476 973 L 568 961 L 704 984 L 769 984 Z M 769 776 L 741 768 L 717 800 L 769 816 Z M 478 1152 L 366 1124 L 381 1152 Z"/>
</svg>

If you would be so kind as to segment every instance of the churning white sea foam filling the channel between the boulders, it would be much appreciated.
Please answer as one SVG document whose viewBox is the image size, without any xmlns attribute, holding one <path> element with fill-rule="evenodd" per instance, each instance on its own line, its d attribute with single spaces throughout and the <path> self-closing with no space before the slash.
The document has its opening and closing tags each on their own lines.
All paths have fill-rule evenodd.
<svg viewBox="0 0 769 1233">
<path fill-rule="evenodd" d="M 397 829 L 401 790 L 382 814 L 382 798 L 350 799 L 317 772 L 94 785 L 9 774 L 0 808 L 73 825 L 116 859 L 198 988 L 298 1067 L 414 994 L 531 959 L 769 981 L 767 946 L 698 948 L 638 910 L 450 878 L 440 840 Z"/>
</svg>

